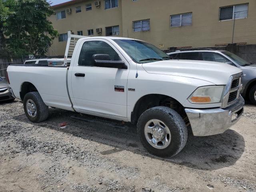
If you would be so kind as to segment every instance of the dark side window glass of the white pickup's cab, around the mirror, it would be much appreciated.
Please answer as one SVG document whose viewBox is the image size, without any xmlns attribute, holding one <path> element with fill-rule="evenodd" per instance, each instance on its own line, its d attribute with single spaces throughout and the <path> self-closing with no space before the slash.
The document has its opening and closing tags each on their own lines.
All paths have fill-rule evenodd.
<svg viewBox="0 0 256 192">
<path fill-rule="evenodd" d="M 118 53 L 104 41 L 87 41 L 84 42 L 80 52 L 78 65 L 94 66 L 92 56 L 94 54 L 108 54 L 111 60 L 118 61 L 120 57 Z"/>
</svg>

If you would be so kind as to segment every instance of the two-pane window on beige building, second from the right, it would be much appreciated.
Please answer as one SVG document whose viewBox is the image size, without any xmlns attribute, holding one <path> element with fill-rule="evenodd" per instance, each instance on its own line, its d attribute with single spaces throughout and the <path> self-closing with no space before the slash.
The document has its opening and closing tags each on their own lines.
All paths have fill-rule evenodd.
<svg viewBox="0 0 256 192">
<path fill-rule="evenodd" d="M 192 13 L 171 15 L 171 27 L 192 25 Z"/>
</svg>

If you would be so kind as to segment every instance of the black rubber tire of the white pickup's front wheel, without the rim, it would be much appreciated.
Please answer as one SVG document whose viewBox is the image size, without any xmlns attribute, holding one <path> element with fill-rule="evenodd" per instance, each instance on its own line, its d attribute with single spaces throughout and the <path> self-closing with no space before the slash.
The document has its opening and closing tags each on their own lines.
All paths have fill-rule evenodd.
<svg viewBox="0 0 256 192">
<path fill-rule="evenodd" d="M 152 119 L 158 119 L 166 124 L 170 130 L 171 141 L 169 146 L 163 149 L 158 149 L 150 145 L 144 134 L 144 127 L 146 123 Z M 146 110 L 140 116 L 137 124 L 137 132 L 140 142 L 150 152 L 156 156 L 172 157 L 178 154 L 186 145 L 188 140 L 188 129 L 180 114 L 175 110 L 158 106 Z"/>
</svg>

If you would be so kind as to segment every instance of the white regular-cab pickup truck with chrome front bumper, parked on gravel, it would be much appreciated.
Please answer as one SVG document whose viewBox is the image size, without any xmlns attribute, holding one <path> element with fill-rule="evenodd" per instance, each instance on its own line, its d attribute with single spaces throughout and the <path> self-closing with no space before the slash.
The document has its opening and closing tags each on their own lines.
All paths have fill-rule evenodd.
<svg viewBox="0 0 256 192">
<path fill-rule="evenodd" d="M 13 95 L 32 122 L 48 107 L 137 124 L 143 146 L 174 156 L 188 138 L 221 134 L 243 113 L 242 71 L 228 64 L 172 60 L 141 40 L 68 33 L 70 66 L 8 66 Z"/>
</svg>

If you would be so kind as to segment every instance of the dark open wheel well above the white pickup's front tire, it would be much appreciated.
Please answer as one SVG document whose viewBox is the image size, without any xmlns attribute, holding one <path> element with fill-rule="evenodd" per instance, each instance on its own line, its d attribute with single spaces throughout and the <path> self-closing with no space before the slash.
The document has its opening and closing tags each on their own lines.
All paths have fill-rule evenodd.
<svg viewBox="0 0 256 192">
<path fill-rule="evenodd" d="M 131 112 L 131 122 L 136 124 L 143 112 L 156 106 L 167 106 L 174 109 L 182 116 L 186 124 L 189 123 L 185 108 L 182 104 L 175 98 L 163 94 L 146 94 L 140 97 Z"/>
</svg>

